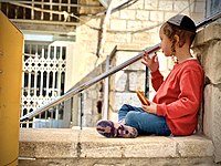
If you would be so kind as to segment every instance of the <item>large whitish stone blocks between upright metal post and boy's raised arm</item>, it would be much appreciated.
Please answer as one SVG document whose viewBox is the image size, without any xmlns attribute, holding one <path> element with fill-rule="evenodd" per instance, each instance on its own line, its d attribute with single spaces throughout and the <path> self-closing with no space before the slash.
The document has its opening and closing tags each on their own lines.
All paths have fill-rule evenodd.
<svg viewBox="0 0 221 166">
<path fill-rule="evenodd" d="M 125 50 L 117 51 L 112 65 L 119 65 L 129 56 L 135 56 L 138 52 L 128 52 Z M 136 90 L 145 91 L 146 68 L 141 64 L 141 60 L 123 69 L 110 76 L 109 81 L 109 104 L 108 118 L 117 121 L 117 113 L 123 104 L 140 106 L 140 102 L 136 96 Z"/>
</svg>

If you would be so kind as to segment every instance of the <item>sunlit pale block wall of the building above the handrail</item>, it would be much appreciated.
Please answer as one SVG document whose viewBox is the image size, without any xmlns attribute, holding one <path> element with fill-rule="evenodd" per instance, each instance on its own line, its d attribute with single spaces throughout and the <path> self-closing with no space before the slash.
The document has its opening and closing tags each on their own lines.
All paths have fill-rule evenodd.
<svg viewBox="0 0 221 166">
<path fill-rule="evenodd" d="M 117 0 L 114 2 L 119 3 Z M 98 4 L 98 1 L 94 0 L 93 3 Z M 77 66 L 75 77 L 78 77 L 75 82 L 102 63 L 115 45 L 127 45 L 134 50 L 152 46 L 159 42 L 158 31 L 162 22 L 179 12 L 190 15 L 198 22 L 203 18 L 204 9 L 206 0 L 139 0 L 110 14 L 110 19 L 106 22 L 106 38 L 103 43 L 101 41 L 104 37 L 105 15 L 81 17 L 73 50 L 75 55 L 73 65 Z M 101 48 L 104 50 L 101 51 Z M 80 62 L 81 66 L 77 65 Z"/>
</svg>

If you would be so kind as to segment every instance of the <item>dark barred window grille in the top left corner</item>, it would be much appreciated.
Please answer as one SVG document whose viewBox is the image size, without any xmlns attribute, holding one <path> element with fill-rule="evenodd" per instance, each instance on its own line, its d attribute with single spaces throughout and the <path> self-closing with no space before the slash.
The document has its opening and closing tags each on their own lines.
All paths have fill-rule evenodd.
<svg viewBox="0 0 221 166">
<path fill-rule="evenodd" d="M 9 19 L 77 22 L 77 0 L 20 0 L 1 2 Z M 64 22 L 64 23 L 65 23 Z"/>
</svg>

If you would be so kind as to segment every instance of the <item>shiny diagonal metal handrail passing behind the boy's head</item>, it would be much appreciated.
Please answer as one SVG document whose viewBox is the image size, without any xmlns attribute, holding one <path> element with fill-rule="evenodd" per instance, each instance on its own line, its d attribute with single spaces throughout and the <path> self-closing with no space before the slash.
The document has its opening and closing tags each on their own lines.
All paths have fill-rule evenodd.
<svg viewBox="0 0 221 166">
<path fill-rule="evenodd" d="M 197 23 L 197 29 L 199 29 L 201 27 L 204 27 L 204 25 L 209 24 L 210 22 L 213 22 L 213 21 L 218 20 L 219 18 L 221 18 L 221 12 L 219 12 L 217 14 L 213 14 L 213 15 L 211 15 L 209 18 L 206 18 L 202 21 L 200 21 L 199 23 Z M 50 103 L 36 108 L 35 111 L 33 111 L 33 112 L 31 112 L 31 113 L 29 113 L 29 114 L 27 114 L 24 116 L 22 116 L 20 118 L 20 122 L 25 121 L 25 120 L 31 120 L 32 117 L 41 114 L 42 112 L 49 110 L 50 107 L 55 106 L 56 104 L 59 104 L 59 103 L 61 103 L 63 101 L 66 101 L 67 98 L 71 98 L 72 96 L 74 96 L 75 94 L 77 94 L 77 93 L 82 92 L 83 90 L 90 87 L 91 85 L 102 81 L 103 79 L 105 79 L 107 76 L 110 76 L 112 74 L 118 72 L 119 70 L 122 70 L 122 69 L 128 66 L 129 64 L 140 60 L 141 56 L 144 55 L 144 52 L 148 52 L 148 54 L 150 54 L 152 52 L 156 52 L 159 49 L 160 49 L 160 43 L 158 43 L 158 44 L 156 44 L 156 45 L 154 45 L 151 48 L 145 49 L 143 52 L 140 52 L 136 56 L 134 56 L 134 58 L 125 61 L 124 63 L 110 69 L 109 71 L 107 71 L 107 72 L 105 72 L 105 73 L 103 73 L 103 74 L 101 74 L 101 75 L 98 75 L 98 76 L 96 76 L 96 77 L 83 83 L 82 85 L 80 85 L 80 86 L 77 86 L 75 89 L 71 89 L 70 91 L 67 91 L 62 96 L 59 96 L 55 100 L 53 100 L 52 102 L 50 102 Z"/>
</svg>

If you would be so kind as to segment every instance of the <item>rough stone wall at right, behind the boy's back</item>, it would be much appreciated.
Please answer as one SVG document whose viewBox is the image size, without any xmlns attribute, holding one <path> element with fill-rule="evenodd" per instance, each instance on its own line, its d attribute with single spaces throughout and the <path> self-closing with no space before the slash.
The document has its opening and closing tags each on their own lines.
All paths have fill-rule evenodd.
<svg viewBox="0 0 221 166">
<path fill-rule="evenodd" d="M 221 162 L 221 23 L 212 23 L 196 38 L 194 53 L 204 69 L 204 96 L 201 110 L 203 134 L 214 144 L 215 162 Z"/>
</svg>

